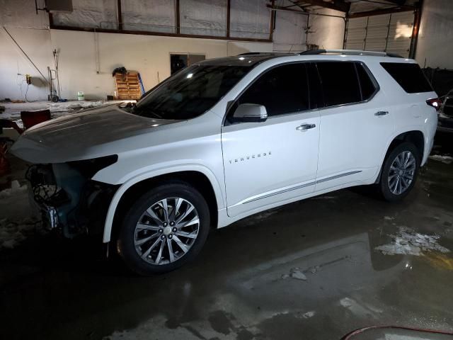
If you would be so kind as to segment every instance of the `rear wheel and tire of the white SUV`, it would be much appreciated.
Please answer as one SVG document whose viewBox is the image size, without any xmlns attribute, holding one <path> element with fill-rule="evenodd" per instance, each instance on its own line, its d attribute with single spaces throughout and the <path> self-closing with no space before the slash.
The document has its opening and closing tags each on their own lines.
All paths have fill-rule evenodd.
<svg viewBox="0 0 453 340">
<path fill-rule="evenodd" d="M 403 165 L 401 166 L 401 164 Z M 391 150 L 386 155 L 382 165 L 381 178 L 378 184 L 382 198 L 389 202 L 396 202 L 405 198 L 415 185 L 419 167 L 420 154 L 412 143 L 402 142 Z"/>
</svg>

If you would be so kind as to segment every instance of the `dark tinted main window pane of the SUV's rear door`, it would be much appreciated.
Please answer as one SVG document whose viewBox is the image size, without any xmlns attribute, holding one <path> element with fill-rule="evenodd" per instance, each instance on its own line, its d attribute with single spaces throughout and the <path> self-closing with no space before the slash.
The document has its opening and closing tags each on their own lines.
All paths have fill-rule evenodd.
<svg viewBox="0 0 453 340">
<path fill-rule="evenodd" d="M 353 62 L 318 62 L 326 106 L 361 101 L 359 81 Z"/>
</svg>

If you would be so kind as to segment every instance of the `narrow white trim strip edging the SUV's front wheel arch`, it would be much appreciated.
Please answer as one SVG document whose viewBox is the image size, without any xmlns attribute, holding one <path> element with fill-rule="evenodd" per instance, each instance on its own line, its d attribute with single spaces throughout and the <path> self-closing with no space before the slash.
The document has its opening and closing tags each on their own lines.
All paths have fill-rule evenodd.
<svg viewBox="0 0 453 340">
<path fill-rule="evenodd" d="M 219 184 L 219 181 L 217 180 L 216 176 L 212 173 L 210 169 L 208 169 L 206 166 L 200 165 L 200 164 L 184 164 L 184 165 L 179 165 L 179 166 L 174 166 L 171 169 L 168 168 L 163 168 L 163 169 L 156 169 L 154 171 L 147 171 L 142 174 L 138 174 L 137 176 L 132 177 L 125 183 L 122 183 L 120 188 L 116 191 L 115 195 L 113 196 L 107 216 L 105 217 L 105 225 L 104 225 L 104 233 L 103 233 L 103 242 L 107 243 L 110 242 L 110 236 L 112 233 L 112 227 L 113 227 L 113 219 L 115 217 L 115 211 L 117 209 L 118 203 L 120 203 L 120 200 L 124 193 L 132 187 L 134 184 L 137 184 L 141 181 L 145 181 L 147 179 L 152 179 L 153 177 L 156 176 L 161 176 L 161 175 L 166 175 L 166 174 L 174 174 L 177 172 L 182 172 L 182 171 L 197 171 L 200 172 L 201 174 L 204 174 L 207 179 L 209 179 L 212 189 L 214 190 L 214 194 L 217 200 L 217 207 L 218 209 L 223 209 L 225 207 L 225 199 L 224 195 L 222 192 L 222 187 Z"/>
</svg>

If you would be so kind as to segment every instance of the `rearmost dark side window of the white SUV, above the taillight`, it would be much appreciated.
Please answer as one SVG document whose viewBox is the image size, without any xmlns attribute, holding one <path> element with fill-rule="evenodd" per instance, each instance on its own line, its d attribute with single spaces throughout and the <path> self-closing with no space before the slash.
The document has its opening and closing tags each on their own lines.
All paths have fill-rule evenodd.
<svg viewBox="0 0 453 340">
<path fill-rule="evenodd" d="M 382 62 L 381 65 L 408 94 L 433 91 L 418 64 Z"/>
</svg>

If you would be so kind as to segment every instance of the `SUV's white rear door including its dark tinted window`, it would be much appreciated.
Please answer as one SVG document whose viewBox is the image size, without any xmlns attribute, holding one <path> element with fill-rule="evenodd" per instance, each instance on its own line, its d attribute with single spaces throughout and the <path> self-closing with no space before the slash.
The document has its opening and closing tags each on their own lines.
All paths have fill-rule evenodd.
<svg viewBox="0 0 453 340">
<path fill-rule="evenodd" d="M 316 191 L 377 173 L 394 118 L 384 94 L 361 62 L 317 62 L 325 107 L 321 109 Z"/>
</svg>

